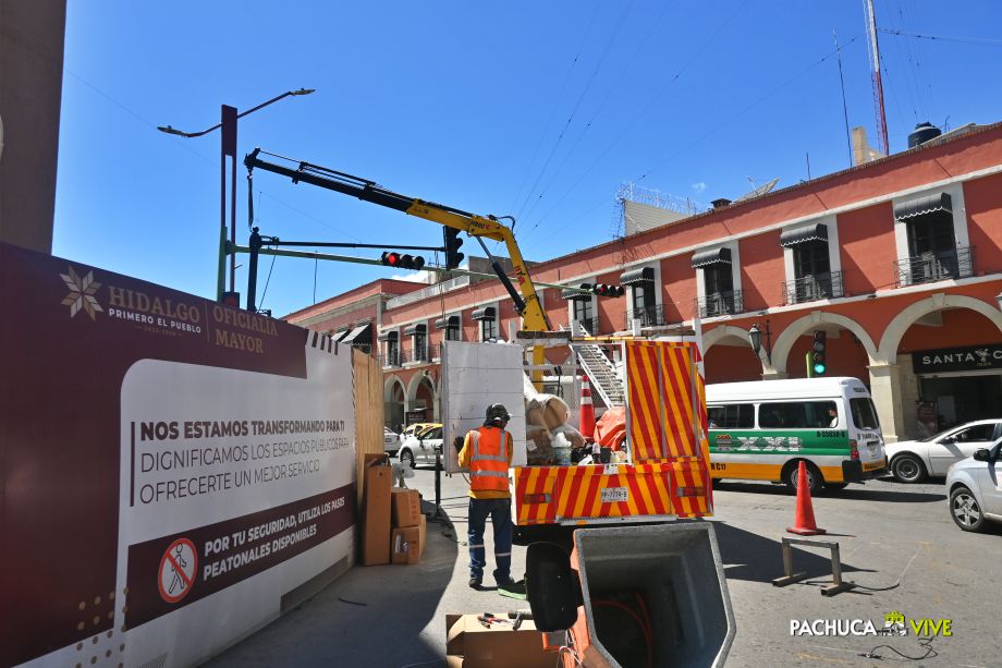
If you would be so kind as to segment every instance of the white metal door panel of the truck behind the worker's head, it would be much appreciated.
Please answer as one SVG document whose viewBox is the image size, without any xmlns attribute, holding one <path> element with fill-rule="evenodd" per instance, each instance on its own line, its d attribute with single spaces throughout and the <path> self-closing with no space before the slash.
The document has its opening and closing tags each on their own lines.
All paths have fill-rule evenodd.
<svg viewBox="0 0 1002 668">
<path fill-rule="evenodd" d="M 508 430 L 514 440 L 512 464 L 525 465 L 525 400 L 522 391 L 523 348 L 503 343 L 445 341 L 442 347 L 442 425 L 445 471 L 459 464 L 456 437 L 484 424 L 487 406 L 503 403 L 512 415 Z"/>
</svg>

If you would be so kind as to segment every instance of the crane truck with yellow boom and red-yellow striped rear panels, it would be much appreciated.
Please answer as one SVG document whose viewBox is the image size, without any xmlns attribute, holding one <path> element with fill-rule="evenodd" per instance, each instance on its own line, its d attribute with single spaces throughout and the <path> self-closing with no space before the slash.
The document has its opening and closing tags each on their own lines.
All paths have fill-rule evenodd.
<svg viewBox="0 0 1002 668">
<path fill-rule="evenodd" d="M 277 158 L 284 163 L 272 159 Z M 283 158 L 256 148 L 244 160 L 248 171 L 261 169 L 286 177 L 293 183 L 309 183 L 383 207 L 424 218 L 466 232 L 480 242 L 501 241 L 511 257 L 518 289 L 493 257 L 492 267 L 522 316 L 523 340 L 531 352 L 528 365 L 537 386 L 545 367 L 547 332 L 553 327 L 536 291 L 512 229 L 504 217 L 479 216 L 454 207 L 410 197 L 389 191 L 375 181 L 362 179 L 305 161 Z M 488 253 L 488 256 L 490 254 Z M 513 518 L 520 530 L 533 526 L 588 526 L 611 523 L 665 522 L 679 518 L 700 518 L 713 512 L 709 474 L 706 401 L 698 371 L 699 350 L 693 343 L 648 341 L 632 338 L 575 340 L 564 344 L 619 348 L 625 361 L 623 374 L 626 399 L 626 452 L 608 463 L 573 465 L 527 465 L 525 438 L 516 438 L 511 469 Z M 466 347 L 481 347 L 478 353 Z M 497 401 L 485 396 L 484 405 L 471 403 L 471 382 L 464 374 L 471 354 L 494 356 L 490 368 L 508 368 L 508 391 L 521 404 L 524 364 L 496 344 L 449 341 L 442 353 L 444 442 L 452 442 L 465 429 L 478 426 L 484 408 Z M 453 354 L 450 354 L 453 353 Z M 501 360 L 508 360 L 501 362 Z M 451 369 L 451 373 L 450 373 Z M 497 376 L 494 376 L 497 378 Z M 490 391 L 501 391 L 492 381 Z M 461 409 L 460 405 L 466 408 Z M 473 408 L 471 408 L 473 406 Z M 520 406 L 521 408 L 521 406 Z M 513 411 L 513 414 L 517 414 Z M 457 470 L 455 452 L 445 449 L 447 471 Z M 526 531 L 525 533 L 528 533 Z"/>
</svg>

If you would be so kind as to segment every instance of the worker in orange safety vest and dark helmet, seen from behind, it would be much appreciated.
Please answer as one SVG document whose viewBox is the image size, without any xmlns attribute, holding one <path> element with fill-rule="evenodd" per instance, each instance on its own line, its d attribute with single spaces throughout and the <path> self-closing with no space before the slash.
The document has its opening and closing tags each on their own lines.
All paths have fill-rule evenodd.
<svg viewBox="0 0 1002 668">
<path fill-rule="evenodd" d="M 484 582 L 487 554 L 484 530 L 490 517 L 494 527 L 494 581 L 499 590 L 514 586 L 512 568 L 512 493 L 508 469 L 512 463 L 512 435 L 505 430 L 511 415 L 500 403 L 487 409 L 484 426 L 468 432 L 460 450 L 460 466 L 469 469 L 469 586 Z"/>
</svg>

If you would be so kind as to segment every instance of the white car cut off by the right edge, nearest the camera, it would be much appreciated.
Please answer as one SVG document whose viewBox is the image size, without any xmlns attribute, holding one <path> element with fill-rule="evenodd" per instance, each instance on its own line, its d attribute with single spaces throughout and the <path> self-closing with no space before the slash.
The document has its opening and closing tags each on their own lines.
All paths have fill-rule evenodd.
<svg viewBox="0 0 1002 668">
<path fill-rule="evenodd" d="M 1002 439 L 979 448 L 946 473 L 950 517 L 964 531 L 983 531 L 989 521 L 1002 522 Z"/>
</svg>

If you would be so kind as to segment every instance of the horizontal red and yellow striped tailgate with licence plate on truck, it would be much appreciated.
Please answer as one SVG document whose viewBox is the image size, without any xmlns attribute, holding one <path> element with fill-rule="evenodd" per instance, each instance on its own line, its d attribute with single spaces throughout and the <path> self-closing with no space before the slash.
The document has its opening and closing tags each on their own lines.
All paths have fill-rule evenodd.
<svg viewBox="0 0 1002 668">
<path fill-rule="evenodd" d="M 710 478 L 698 458 L 637 466 L 525 466 L 514 469 L 516 523 L 554 524 L 589 519 L 712 512 Z M 625 500 L 603 500 L 625 496 Z M 682 497 L 681 490 L 697 496 Z"/>
</svg>

